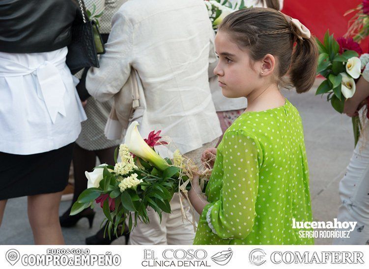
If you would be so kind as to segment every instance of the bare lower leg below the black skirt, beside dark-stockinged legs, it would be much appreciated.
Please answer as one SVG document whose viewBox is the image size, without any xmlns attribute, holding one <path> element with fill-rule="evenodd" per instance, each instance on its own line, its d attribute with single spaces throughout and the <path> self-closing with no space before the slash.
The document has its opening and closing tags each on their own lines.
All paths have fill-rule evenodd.
<svg viewBox="0 0 369 269">
<path fill-rule="evenodd" d="M 28 196 L 28 219 L 35 245 L 64 245 L 59 223 L 62 192 Z"/>
</svg>

